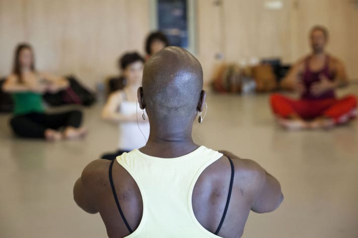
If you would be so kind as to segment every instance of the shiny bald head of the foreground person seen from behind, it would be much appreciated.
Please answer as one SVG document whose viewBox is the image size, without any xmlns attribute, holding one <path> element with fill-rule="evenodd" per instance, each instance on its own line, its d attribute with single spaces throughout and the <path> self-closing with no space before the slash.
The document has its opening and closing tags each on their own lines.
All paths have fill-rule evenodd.
<svg viewBox="0 0 358 238">
<path fill-rule="evenodd" d="M 187 50 L 169 46 L 153 55 L 143 72 L 142 104 L 152 120 L 192 119 L 200 109 L 203 70 Z"/>
</svg>

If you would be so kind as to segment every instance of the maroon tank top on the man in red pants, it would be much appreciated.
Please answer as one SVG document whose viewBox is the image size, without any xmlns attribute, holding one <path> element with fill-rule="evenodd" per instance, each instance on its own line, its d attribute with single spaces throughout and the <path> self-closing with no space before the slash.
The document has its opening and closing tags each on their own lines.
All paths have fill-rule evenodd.
<svg viewBox="0 0 358 238">
<path fill-rule="evenodd" d="M 305 72 L 303 74 L 303 84 L 306 91 L 301 95 L 302 99 L 321 100 L 335 98 L 334 90 L 329 90 L 320 96 L 315 96 L 311 93 L 311 85 L 320 81 L 321 74 L 325 75 L 330 81 L 333 81 L 335 78 L 335 74 L 331 73 L 329 70 L 329 56 L 326 56 L 324 67 L 319 71 L 312 71 L 310 69 L 310 56 L 307 57 L 305 60 Z"/>
</svg>

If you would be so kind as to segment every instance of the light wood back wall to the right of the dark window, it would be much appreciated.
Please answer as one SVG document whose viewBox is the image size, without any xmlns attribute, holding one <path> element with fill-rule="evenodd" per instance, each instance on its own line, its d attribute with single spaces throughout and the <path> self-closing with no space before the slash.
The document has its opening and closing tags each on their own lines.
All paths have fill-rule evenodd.
<svg viewBox="0 0 358 238">
<path fill-rule="evenodd" d="M 312 26 L 328 28 L 328 51 L 358 79 L 358 8 L 349 0 L 282 0 L 281 10 L 265 8 L 267 0 L 198 0 L 198 53 L 206 78 L 221 62 L 251 57 L 280 57 L 294 63 L 310 52 Z M 223 55 L 217 59 L 217 53 Z"/>
</svg>

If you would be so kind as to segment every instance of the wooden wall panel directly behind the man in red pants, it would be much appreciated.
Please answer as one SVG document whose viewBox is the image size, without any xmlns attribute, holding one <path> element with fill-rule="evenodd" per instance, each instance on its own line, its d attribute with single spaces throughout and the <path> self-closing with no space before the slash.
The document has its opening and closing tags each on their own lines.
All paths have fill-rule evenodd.
<svg viewBox="0 0 358 238">
<path fill-rule="evenodd" d="M 297 39 L 292 42 L 292 59 L 310 51 L 308 33 L 311 27 L 324 25 L 330 34 L 328 51 L 342 59 L 349 77 L 357 80 L 358 8 L 349 0 L 296 0 L 296 3 L 292 30 Z"/>
</svg>

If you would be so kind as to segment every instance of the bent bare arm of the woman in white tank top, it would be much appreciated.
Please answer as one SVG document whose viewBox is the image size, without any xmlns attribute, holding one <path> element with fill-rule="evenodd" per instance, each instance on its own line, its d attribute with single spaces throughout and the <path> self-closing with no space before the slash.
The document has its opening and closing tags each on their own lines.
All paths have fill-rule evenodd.
<svg viewBox="0 0 358 238">
<path fill-rule="evenodd" d="M 137 121 L 136 115 L 124 115 L 118 112 L 118 107 L 122 102 L 122 91 L 112 93 L 106 105 L 102 110 L 102 118 L 113 122 L 135 122 Z"/>
</svg>

